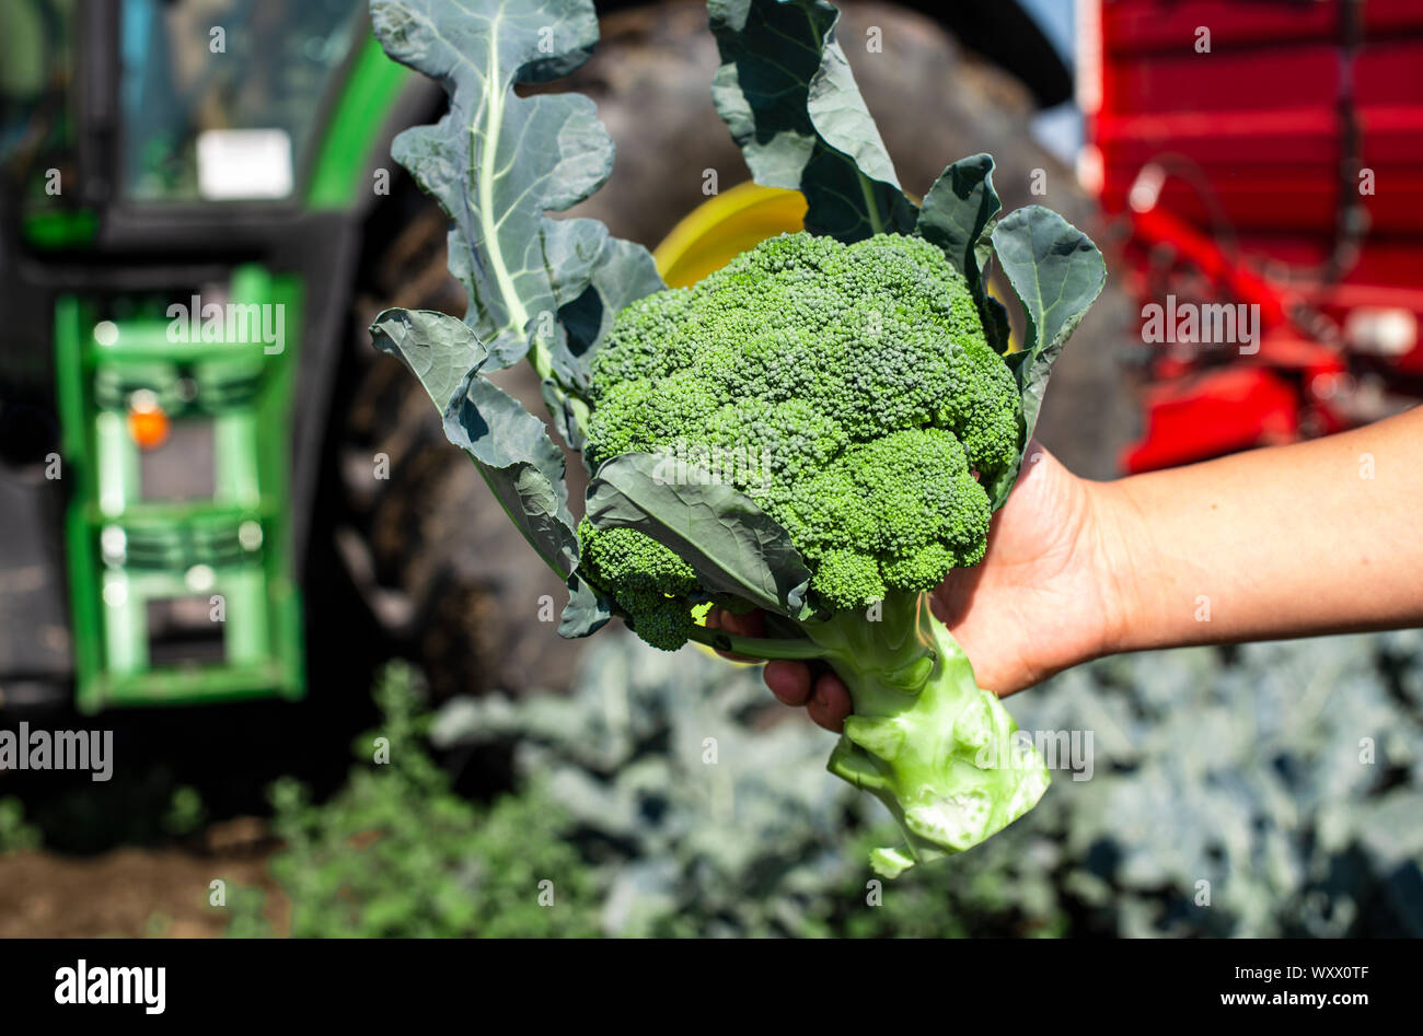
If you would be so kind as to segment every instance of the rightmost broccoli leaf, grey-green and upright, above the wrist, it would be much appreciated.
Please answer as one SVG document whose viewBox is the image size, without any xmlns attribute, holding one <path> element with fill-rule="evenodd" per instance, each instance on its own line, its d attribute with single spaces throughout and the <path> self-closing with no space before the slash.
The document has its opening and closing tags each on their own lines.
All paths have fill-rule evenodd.
<svg viewBox="0 0 1423 1036">
<path fill-rule="evenodd" d="M 1087 307 L 1101 293 L 1107 265 L 1091 238 L 1040 205 L 1027 205 L 993 228 L 993 250 L 1023 313 L 1023 349 L 1007 356 L 1023 396 L 1023 441 L 1032 437 L 1053 363 Z"/>
</svg>

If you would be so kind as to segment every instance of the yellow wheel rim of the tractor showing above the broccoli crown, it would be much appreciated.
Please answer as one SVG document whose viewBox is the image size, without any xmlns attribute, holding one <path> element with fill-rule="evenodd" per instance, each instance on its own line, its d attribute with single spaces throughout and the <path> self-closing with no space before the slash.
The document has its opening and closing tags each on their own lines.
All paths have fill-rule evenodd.
<svg viewBox="0 0 1423 1036">
<path fill-rule="evenodd" d="M 760 184 L 737 184 L 689 212 L 653 250 L 669 287 L 694 285 L 712 270 L 777 233 L 805 222 L 805 198 Z"/>
</svg>

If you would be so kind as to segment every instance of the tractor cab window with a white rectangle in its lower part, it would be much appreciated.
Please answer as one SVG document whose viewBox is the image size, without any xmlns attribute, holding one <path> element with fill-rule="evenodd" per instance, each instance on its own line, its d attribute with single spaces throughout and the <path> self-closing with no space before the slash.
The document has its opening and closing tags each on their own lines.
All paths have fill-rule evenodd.
<svg viewBox="0 0 1423 1036">
<path fill-rule="evenodd" d="M 289 196 L 364 24 L 364 0 L 122 4 L 124 195 Z"/>
</svg>

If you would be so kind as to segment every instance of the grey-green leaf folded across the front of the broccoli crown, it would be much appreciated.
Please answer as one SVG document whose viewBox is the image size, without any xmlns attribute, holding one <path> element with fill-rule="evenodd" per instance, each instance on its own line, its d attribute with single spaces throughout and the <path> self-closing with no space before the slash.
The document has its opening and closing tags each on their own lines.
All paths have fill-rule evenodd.
<svg viewBox="0 0 1423 1036">
<path fill-rule="evenodd" d="M 588 519 L 635 528 L 672 548 L 709 591 L 783 615 L 808 613 L 810 569 L 785 529 L 730 485 L 665 477 L 669 462 L 640 453 L 606 461 L 588 485 Z"/>
</svg>

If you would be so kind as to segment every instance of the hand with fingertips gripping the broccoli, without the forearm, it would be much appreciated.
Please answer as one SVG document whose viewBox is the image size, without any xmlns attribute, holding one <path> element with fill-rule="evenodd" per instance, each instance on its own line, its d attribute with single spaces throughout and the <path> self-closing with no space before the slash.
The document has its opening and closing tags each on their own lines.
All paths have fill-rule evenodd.
<svg viewBox="0 0 1423 1036">
<path fill-rule="evenodd" d="M 1023 474 L 993 515 L 983 561 L 951 572 L 933 592 L 933 613 L 968 653 L 980 686 L 1010 694 L 1114 642 L 1126 555 L 1100 487 L 1032 441 Z M 761 613 L 714 612 L 709 625 L 758 636 Z M 838 731 L 851 712 L 850 692 L 831 672 L 777 660 L 766 663 L 764 679 L 780 702 L 805 706 L 828 730 Z"/>
</svg>

